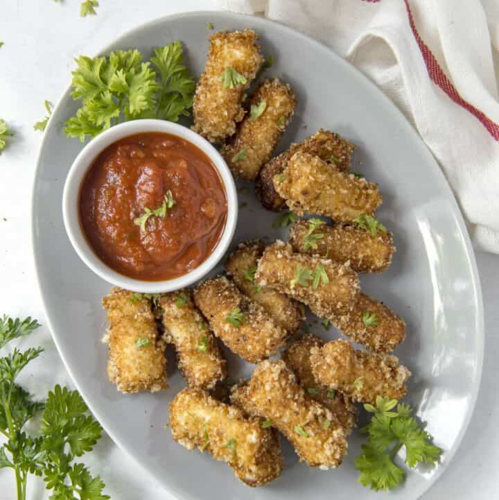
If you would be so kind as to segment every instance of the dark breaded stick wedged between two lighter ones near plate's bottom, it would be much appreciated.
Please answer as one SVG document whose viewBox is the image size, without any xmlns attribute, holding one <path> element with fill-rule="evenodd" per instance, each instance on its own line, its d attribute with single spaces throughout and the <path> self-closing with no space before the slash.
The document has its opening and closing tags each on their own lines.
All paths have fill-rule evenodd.
<svg viewBox="0 0 499 500">
<path fill-rule="evenodd" d="M 355 425 L 356 407 L 347 395 L 339 390 L 328 389 L 314 379 L 310 365 L 310 351 L 313 347 L 322 347 L 322 340 L 316 335 L 306 334 L 283 352 L 283 361 L 295 373 L 298 383 L 308 395 L 329 408 L 349 435 Z"/>
</svg>

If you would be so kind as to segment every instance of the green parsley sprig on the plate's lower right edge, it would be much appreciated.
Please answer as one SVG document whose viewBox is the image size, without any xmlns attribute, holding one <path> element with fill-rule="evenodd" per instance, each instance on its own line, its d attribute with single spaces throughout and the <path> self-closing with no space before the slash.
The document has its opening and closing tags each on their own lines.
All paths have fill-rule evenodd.
<svg viewBox="0 0 499 500">
<path fill-rule="evenodd" d="M 378 396 L 376 407 L 365 404 L 364 408 L 374 415 L 361 429 L 367 433 L 367 444 L 362 445 L 364 453 L 355 461 L 362 485 L 376 491 L 396 488 L 405 476 L 405 471 L 394 463 L 402 447 L 405 447 L 404 462 L 411 468 L 439 461 L 442 450 L 432 445 L 429 434 L 410 416 L 409 405 Z"/>
</svg>

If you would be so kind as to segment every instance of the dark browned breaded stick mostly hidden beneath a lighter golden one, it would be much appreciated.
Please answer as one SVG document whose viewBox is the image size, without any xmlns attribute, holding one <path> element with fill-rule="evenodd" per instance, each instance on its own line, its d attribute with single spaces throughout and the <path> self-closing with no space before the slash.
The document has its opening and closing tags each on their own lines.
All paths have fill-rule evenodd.
<svg viewBox="0 0 499 500">
<path fill-rule="evenodd" d="M 348 172 L 351 155 L 355 146 L 330 130 L 320 129 L 299 144 L 291 144 L 288 150 L 263 165 L 256 178 L 255 190 L 261 204 L 268 210 L 282 210 L 286 202 L 274 188 L 274 175 L 282 173 L 290 157 L 295 153 L 310 153 L 329 164 L 336 170 Z"/>
</svg>

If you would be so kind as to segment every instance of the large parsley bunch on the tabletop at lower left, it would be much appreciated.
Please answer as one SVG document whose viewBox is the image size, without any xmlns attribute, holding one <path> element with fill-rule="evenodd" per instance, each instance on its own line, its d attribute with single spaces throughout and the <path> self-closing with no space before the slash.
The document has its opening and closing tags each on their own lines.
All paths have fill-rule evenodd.
<svg viewBox="0 0 499 500">
<path fill-rule="evenodd" d="M 40 327 L 36 320 L 0 319 L 0 349 Z M 0 433 L 6 442 L 0 447 L 0 468 L 13 470 L 17 499 L 26 500 L 28 474 L 43 476 L 52 499 L 106 500 L 104 483 L 74 459 L 91 451 L 102 428 L 88 413 L 75 391 L 55 386 L 46 402 L 33 401 L 28 391 L 16 383 L 26 365 L 42 353 L 42 348 L 23 352 L 15 347 L 0 357 Z M 25 424 L 43 411 L 40 431 L 34 437 Z"/>
</svg>

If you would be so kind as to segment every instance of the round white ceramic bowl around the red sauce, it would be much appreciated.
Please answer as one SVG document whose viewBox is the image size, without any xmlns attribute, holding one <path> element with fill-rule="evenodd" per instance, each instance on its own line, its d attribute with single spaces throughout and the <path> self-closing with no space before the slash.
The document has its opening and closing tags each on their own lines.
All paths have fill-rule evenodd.
<svg viewBox="0 0 499 500">
<path fill-rule="evenodd" d="M 222 184 L 225 187 L 225 193 L 227 194 L 227 222 L 225 223 L 225 229 L 220 236 L 218 245 L 213 249 L 211 255 L 200 266 L 191 270 L 186 275 L 164 281 L 151 282 L 142 279 L 134 279 L 122 275 L 107 266 L 107 264 L 97 257 L 94 250 L 92 250 L 89 245 L 85 238 L 85 234 L 82 232 L 78 217 L 78 193 L 82 180 L 85 178 L 85 174 L 91 164 L 107 146 L 110 146 L 123 137 L 140 134 L 141 132 L 166 132 L 168 134 L 177 135 L 177 137 L 182 137 L 182 139 L 198 146 L 216 166 L 220 178 L 222 179 Z M 106 130 L 92 139 L 89 144 L 82 149 L 71 165 L 71 169 L 69 169 L 64 184 L 62 216 L 64 218 L 64 227 L 66 228 L 67 235 L 69 236 L 73 248 L 76 250 L 80 259 L 82 259 L 96 275 L 111 284 L 127 290 L 141 293 L 161 293 L 175 291 L 184 286 L 193 284 L 198 281 L 198 279 L 204 277 L 204 275 L 209 273 L 209 271 L 218 264 L 218 261 L 220 261 L 229 247 L 232 237 L 234 236 L 234 231 L 236 230 L 238 199 L 236 185 L 234 184 L 234 179 L 229 171 L 229 167 L 220 153 L 218 153 L 206 139 L 178 123 L 153 119 L 135 120 L 121 123 Z"/>
</svg>

